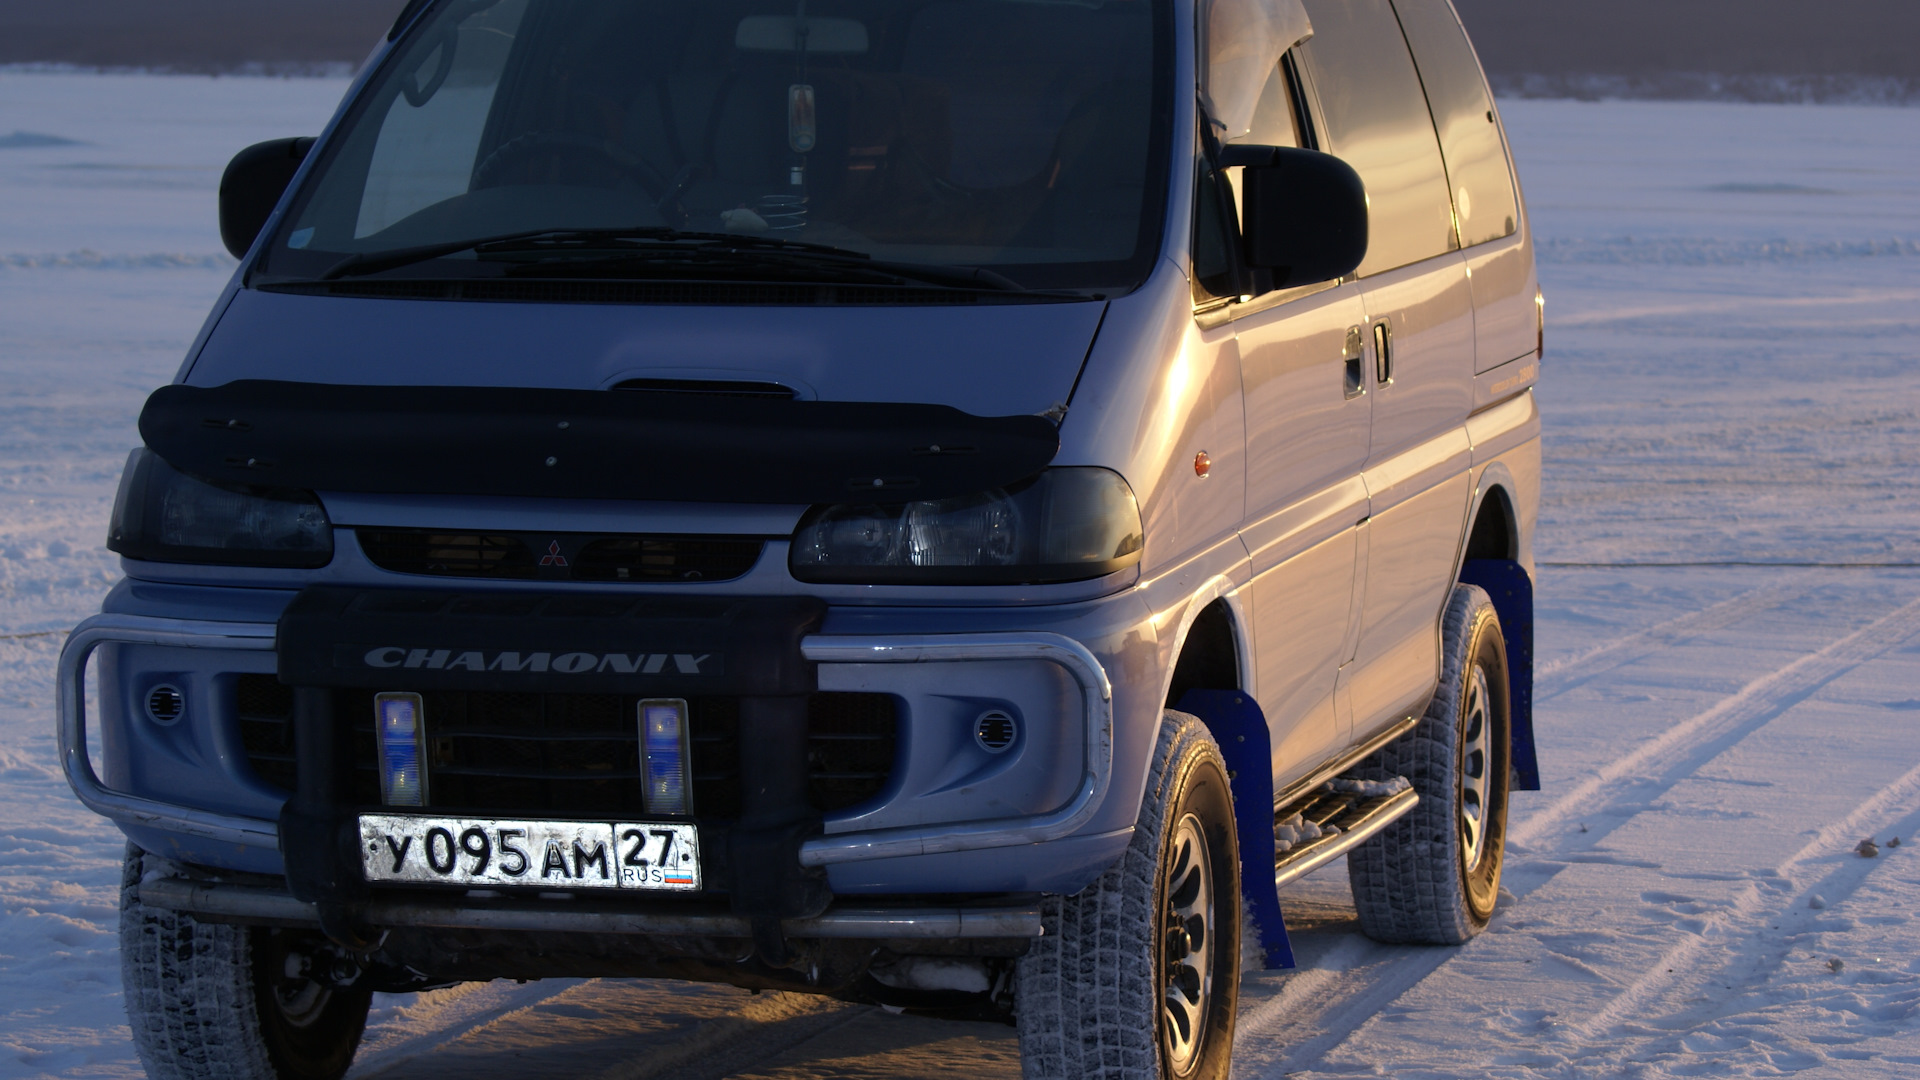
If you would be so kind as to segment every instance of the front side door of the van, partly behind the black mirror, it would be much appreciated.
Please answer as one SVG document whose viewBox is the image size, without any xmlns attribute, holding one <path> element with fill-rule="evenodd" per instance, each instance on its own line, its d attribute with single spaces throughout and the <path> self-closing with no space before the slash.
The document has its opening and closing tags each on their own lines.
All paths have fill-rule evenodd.
<svg viewBox="0 0 1920 1080">
<path fill-rule="evenodd" d="M 1269 77 L 1254 127 L 1235 142 L 1315 144 L 1288 58 Z M 1236 200 L 1235 175 L 1223 200 Z M 1229 213 L 1229 231 L 1236 225 Z M 1352 659 L 1359 523 L 1373 405 L 1365 307 L 1352 282 L 1229 298 L 1246 402 L 1246 590 L 1254 696 L 1267 715 L 1277 786 L 1346 748 L 1336 676 Z"/>
</svg>

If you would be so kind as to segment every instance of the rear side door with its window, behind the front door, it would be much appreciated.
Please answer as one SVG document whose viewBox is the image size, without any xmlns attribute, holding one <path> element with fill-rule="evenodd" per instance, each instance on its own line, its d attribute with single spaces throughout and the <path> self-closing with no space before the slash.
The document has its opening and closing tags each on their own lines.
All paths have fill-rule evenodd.
<svg viewBox="0 0 1920 1080">
<path fill-rule="evenodd" d="M 1388 0 L 1306 0 L 1327 150 L 1367 183 L 1359 294 L 1373 359 L 1371 500 L 1354 736 L 1411 715 L 1440 673 L 1440 613 L 1471 498 L 1475 321 L 1446 165 Z M 1346 690 L 1346 686 L 1342 686 Z"/>
</svg>

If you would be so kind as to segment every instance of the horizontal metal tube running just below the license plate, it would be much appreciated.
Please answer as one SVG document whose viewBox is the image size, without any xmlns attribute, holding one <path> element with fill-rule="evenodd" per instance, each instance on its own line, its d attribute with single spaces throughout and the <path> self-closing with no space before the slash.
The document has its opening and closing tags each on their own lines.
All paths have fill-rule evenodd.
<svg viewBox="0 0 1920 1080">
<path fill-rule="evenodd" d="M 159 878 L 140 886 L 140 903 L 207 919 L 317 926 L 311 903 L 253 886 Z M 528 907 L 474 899 L 374 899 L 365 919 L 376 928 L 420 930 L 534 930 L 561 934 L 632 934 L 751 938 L 753 924 L 735 915 L 666 915 L 612 905 L 568 903 Z M 789 938 L 1039 938 L 1041 909 L 1025 907 L 843 907 L 816 919 L 783 922 Z"/>
</svg>

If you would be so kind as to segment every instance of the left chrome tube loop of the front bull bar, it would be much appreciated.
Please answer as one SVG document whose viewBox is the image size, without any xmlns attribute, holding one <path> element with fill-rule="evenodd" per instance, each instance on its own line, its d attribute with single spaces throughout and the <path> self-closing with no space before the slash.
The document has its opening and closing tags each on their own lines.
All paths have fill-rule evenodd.
<svg viewBox="0 0 1920 1080">
<path fill-rule="evenodd" d="M 271 623 L 196 623 L 150 619 L 144 615 L 94 615 L 67 636 L 60 650 L 60 763 L 81 803 L 119 824 L 184 832 L 221 844 L 278 849 L 280 828 L 273 821 L 238 817 L 194 807 L 142 799 L 100 782 L 86 757 L 86 661 L 106 644 L 165 646 L 180 650 L 257 650 L 271 651 Z"/>
</svg>

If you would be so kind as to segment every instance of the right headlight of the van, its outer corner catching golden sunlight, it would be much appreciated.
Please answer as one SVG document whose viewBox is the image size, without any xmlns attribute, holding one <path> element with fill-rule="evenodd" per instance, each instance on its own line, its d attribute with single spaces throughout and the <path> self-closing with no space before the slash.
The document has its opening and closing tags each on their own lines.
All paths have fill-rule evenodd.
<svg viewBox="0 0 1920 1080">
<path fill-rule="evenodd" d="M 1140 561 L 1140 503 L 1117 473 L 1048 469 L 1010 488 L 904 505 L 828 505 L 793 536 L 814 584 L 1052 584 Z"/>
</svg>

